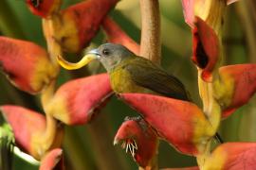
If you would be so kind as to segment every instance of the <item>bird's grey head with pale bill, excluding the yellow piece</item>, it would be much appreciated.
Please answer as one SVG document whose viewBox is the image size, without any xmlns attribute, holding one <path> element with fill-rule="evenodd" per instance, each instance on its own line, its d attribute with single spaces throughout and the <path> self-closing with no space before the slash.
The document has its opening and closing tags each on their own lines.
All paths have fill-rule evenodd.
<svg viewBox="0 0 256 170">
<path fill-rule="evenodd" d="M 97 55 L 108 72 L 119 65 L 122 60 L 134 56 L 126 47 L 115 43 L 101 44 L 99 48 L 91 50 L 87 54 Z"/>
</svg>

